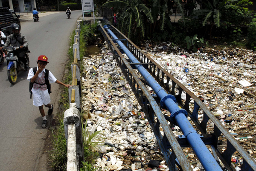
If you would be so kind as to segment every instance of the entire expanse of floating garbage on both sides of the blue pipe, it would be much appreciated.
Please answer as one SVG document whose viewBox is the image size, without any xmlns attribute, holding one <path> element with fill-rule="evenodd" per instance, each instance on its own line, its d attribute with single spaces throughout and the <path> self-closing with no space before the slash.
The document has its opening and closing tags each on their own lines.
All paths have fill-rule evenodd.
<svg viewBox="0 0 256 171">
<path fill-rule="evenodd" d="M 191 53 L 170 42 L 153 46 L 149 41 L 142 46 L 165 70 L 195 95 L 204 98 L 204 104 L 255 158 L 256 54 L 253 51 L 201 48 Z M 148 120 L 108 45 L 105 44 L 101 54 L 84 57 L 82 63 L 86 129 L 90 134 L 100 131 L 105 137 L 98 149 L 103 156 L 97 160 L 96 167 L 104 171 L 168 171 Z M 186 95 L 182 98 L 185 101 Z M 190 108 L 193 107 L 191 104 Z M 201 112 L 199 121 L 202 116 Z M 213 126 L 208 122 L 207 131 L 213 132 Z M 173 132 L 175 136 L 182 134 L 178 126 Z M 225 151 L 225 137 L 219 139 Z M 203 171 L 192 149 L 183 148 L 183 151 L 193 170 Z M 239 171 L 243 160 L 237 152 L 232 162 Z"/>
</svg>

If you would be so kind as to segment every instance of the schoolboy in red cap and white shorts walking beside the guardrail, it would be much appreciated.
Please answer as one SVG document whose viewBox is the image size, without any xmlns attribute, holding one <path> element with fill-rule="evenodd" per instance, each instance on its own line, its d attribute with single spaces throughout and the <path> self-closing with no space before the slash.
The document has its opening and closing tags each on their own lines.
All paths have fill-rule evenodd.
<svg viewBox="0 0 256 171">
<path fill-rule="evenodd" d="M 53 105 L 50 104 L 50 96 L 47 89 L 47 82 L 45 81 L 46 72 L 48 70 L 44 69 L 48 62 L 48 58 L 44 55 L 38 57 L 38 67 L 36 68 L 36 73 L 34 74 L 33 68 L 30 68 L 28 78 L 30 82 L 34 83 L 32 88 L 33 94 L 33 105 L 39 107 L 39 111 L 43 117 L 42 128 L 47 127 L 47 118 L 44 113 L 44 106 L 48 107 L 48 115 L 52 115 Z M 57 83 L 65 87 L 70 87 L 70 84 L 64 84 L 61 81 L 58 81 L 52 73 L 49 71 L 48 74 L 49 83 Z"/>
</svg>

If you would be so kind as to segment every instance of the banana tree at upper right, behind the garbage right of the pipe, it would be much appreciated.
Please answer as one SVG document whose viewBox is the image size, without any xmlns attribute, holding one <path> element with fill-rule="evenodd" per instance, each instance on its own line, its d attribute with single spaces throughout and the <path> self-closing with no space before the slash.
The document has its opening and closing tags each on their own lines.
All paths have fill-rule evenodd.
<svg viewBox="0 0 256 171">
<path fill-rule="evenodd" d="M 202 25 L 205 26 L 209 22 L 211 25 L 209 36 L 212 39 L 212 28 L 221 26 L 221 13 L 226 8 L 237 8 L 238 6 L 230 5 L 239 0 L 204 0 L 202 1 L 203 9 L 198 9 L 193 12 L 193 15 L 197 17 L 203 17 Z"/>
</svg>

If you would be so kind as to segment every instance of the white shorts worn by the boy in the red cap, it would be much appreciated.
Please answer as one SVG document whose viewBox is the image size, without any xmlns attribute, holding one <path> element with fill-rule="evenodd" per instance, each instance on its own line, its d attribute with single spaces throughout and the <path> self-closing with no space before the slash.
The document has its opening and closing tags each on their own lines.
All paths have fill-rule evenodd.
<svg viewBox="0 0 256 171">
<path fill-rule="evenodd" d="M 33 104 L 36 107 L 40 107 L 42 105 L 47 105 L 51 102 L 50 95 L 48 90 L 35 90 L 32 88 L 32 95 L 33 95 Z"/>
</svg>

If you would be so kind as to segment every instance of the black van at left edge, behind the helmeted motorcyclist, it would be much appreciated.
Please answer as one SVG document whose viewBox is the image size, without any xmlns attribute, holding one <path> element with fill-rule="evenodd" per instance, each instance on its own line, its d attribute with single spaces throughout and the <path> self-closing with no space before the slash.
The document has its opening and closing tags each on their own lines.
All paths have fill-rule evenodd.
<svg viewBox="0 0 256 171">
<path fill-rule="evenodd" d="M 0 28 L 6 36 L 12 32 L 10 28 L 11 24 L 16 23 L 20 26 L 19 17 L 20 15 L 16 15 L 12 9 L 0 7 Z"/>
</svg>

